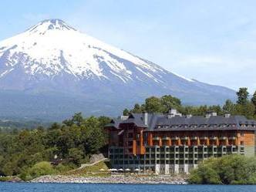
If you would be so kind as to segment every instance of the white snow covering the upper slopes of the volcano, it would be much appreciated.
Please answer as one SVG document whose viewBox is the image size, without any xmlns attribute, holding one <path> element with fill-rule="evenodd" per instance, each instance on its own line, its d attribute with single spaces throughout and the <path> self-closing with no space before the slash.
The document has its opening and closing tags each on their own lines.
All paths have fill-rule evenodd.
<svg viewBox="0 0 256 192">
<path fill-rule="evenodd" d="M 158 80 L 153 73 L 166 72 L 128 52 L 78 32 L 59 19 L 39 22 L 26 32 L 0 42 L 0 54 L 3 56 L 5 52 L 8 52 L 6 69 L 1 71 L 1 77 L 7 76 L 17 65 L 22 65 L 25 73 L 30 75 L 56 76 L 67 72 L 82 79 L 90 76 L 109 79 L 99 66 L 99 62 L 104 61 L 113 76 L 124 83 L 133 80 L 133 72 L 109 53 L 133 62 L 138 70 L 156 82 Z"/>
</svg>

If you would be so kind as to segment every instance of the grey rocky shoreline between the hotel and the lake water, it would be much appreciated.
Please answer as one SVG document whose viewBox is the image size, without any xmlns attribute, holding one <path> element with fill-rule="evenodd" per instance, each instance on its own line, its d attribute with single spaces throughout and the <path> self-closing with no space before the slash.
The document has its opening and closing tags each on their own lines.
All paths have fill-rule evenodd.
<svg viewBox="0 0 256 192">
<path fill-rule="evenodd" d="M 31 183 L 56 183 L 56 184 L 187 184 L 182 177 L 170 176 L 125 176 L 110 175 L 108 177 L 77 177 L 63 175 L 46 175 L 35 178 Z"/>
</svg>

